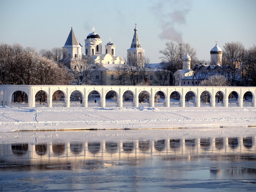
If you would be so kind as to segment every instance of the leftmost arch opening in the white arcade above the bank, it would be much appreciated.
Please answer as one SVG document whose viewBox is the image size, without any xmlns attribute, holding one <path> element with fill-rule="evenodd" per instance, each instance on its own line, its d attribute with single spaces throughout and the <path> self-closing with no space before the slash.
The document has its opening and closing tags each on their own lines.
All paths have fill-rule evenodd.
<svg viewBox="0 0 256 192">
<path fill-rule="evenodd" d="M 28 94 L 25 91 L 17 90 L 10 96 L 11 106 L 28 107 Z"/>
</svg>

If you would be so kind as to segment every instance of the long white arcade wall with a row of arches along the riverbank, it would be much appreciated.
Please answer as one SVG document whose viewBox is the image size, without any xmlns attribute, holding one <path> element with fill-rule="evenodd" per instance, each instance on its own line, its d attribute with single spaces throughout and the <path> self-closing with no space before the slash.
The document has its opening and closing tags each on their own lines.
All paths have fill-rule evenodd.
<svg viewBox="0 0 256 192">
<path fill-rule="evenodd" d="M 83 106 L 88 107 L 88 95 L 91 91 L 98 91 L 100 95 L 101 107 L 105 107 L 105 96 L 108 91 L 115 91 L 117 94 L 117 105 L 123 107 L 123 93 L 131 91 L 133 93 L 134 107 L 139 107 L 138 96 L 140 92 L 147 91 L 149 94 L 150 107 L 154 107 L 154 96 L 158 91 L 162 91 L 165 96 L 165 106 L 170 107 L 170 95 L 177 91 L 180 94 L 180 106 L 185 107 L 185 96 L 189 91 L 195 94 L 195 106 L 200 107 L 200 96 L 203 91 L 210 94 L 211 107 L 215 106 L 215 94 L 221 91 L 223 94 L 223 106 L 228 107 L 228 96 L 232 91 L 238 94 L 238 106 L 243 106 L 243 95 L 250 91 L 252 94 L 252 106 L 255 107 L 256 87 L 203 87 L 203 86 L 100 86 L 100 85 L 0 85 L 1 105 L 10 106 L 11 97 L 14 91 L 23 91 L 28 96 L 28 107 L 35 107 L 35 95 L 38 91 L 45 91 L 47 94 L 47 105 L 52 107 L 52 94 L 60 90 L 65 96 L 65 106 L 70 107 L 70 95 L 73 91 L 80 91 L 83 96 Z"/>
</svg>

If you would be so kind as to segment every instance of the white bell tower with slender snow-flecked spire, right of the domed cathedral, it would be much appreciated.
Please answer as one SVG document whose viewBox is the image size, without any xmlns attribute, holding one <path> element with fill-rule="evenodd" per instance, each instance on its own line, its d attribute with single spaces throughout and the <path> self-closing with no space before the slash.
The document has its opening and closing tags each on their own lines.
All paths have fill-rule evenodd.
<svg viewBox="0 0 256 192">
<path fill-rule="evenodd" d="M 134 28 L 134 35 L 133 35 L 133 41 L 131 44 L 131 48 L 127 49 L 127 57 L 134 55 L 136 57 L 144 57 L 144 49 L 141 48 L 140 42 L 139 42 L 139 37 L 138 37 L 138 29 L 136 27 L 137 24 L 135 24 Z"/>
</svg>

